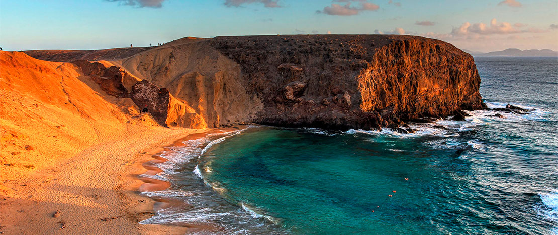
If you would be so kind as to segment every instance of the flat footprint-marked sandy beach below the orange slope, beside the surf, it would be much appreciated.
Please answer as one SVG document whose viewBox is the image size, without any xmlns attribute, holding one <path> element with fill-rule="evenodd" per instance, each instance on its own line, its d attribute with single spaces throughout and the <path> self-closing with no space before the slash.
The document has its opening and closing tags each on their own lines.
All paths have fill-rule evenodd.
<svg viewBox="0 0 558 235">
<path fill-rule="evenodd" d="M 183 227 L 138 224 L 156 203 L 138 189 L 169 187 L 138 175 L 157 173 L 145 163 L 163 146 L 206 130 L 126 127 L 73 157 L 3 182 L 12 192 L 0 196 L 0 233 L 184 234 Z"/>
</svg>

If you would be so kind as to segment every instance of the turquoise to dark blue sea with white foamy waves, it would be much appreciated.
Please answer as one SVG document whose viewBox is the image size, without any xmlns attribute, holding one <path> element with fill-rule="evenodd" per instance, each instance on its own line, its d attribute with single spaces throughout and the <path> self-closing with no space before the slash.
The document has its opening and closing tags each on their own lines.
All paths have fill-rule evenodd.
<svg viewBox="0 0 558 235">
<path fill-rule="evenodd" d="M 248 126 L 167 149 L 191 234 L 558 234 L 558 58 L 475 57 L 489 108 L 389 129 Z M 501 114 L 503 117 L 494 116 Z"/>
</svg>

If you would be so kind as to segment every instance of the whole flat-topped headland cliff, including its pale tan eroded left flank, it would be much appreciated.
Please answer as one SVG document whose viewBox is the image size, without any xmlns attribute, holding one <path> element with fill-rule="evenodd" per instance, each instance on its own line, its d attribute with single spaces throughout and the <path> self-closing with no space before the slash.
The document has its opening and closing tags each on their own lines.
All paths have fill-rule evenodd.
<svg viewBox="0 0 558 235">
<path fill-rule="evenodd" d="M 473 57 L 418 36 L 182 38 L 105 63 L 168 90 L 209 127 L 375 129 L 484 107 Z"/>
</svg>

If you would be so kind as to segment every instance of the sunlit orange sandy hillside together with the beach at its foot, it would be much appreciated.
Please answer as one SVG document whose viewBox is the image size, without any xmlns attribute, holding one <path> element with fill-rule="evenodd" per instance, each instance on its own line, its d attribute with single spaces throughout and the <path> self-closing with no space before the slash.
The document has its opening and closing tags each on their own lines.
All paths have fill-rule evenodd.
<svg viewBox="0 0 558 235">
<path fill-rule="evenodd" d="M 71 63 L 0 51 L 0 233 L 174 234 L 137 224 L 153 207 L 134 174 L 140 152 L 194 131 L 161 127 Z"/>
</svg>

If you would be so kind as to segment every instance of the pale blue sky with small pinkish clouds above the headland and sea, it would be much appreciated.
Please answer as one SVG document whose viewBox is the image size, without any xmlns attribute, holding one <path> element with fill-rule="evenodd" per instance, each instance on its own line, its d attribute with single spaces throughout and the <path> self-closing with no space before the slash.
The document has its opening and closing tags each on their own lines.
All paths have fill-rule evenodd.
<svg viewBox="0 0 558 235">
<path fill-rule="evenodd" d="M 406 34 L 470 51 L 558 51 L 558 0 L 0 0 L 0 47 L 8 51 L 297 33 Z"/>
</svg>

